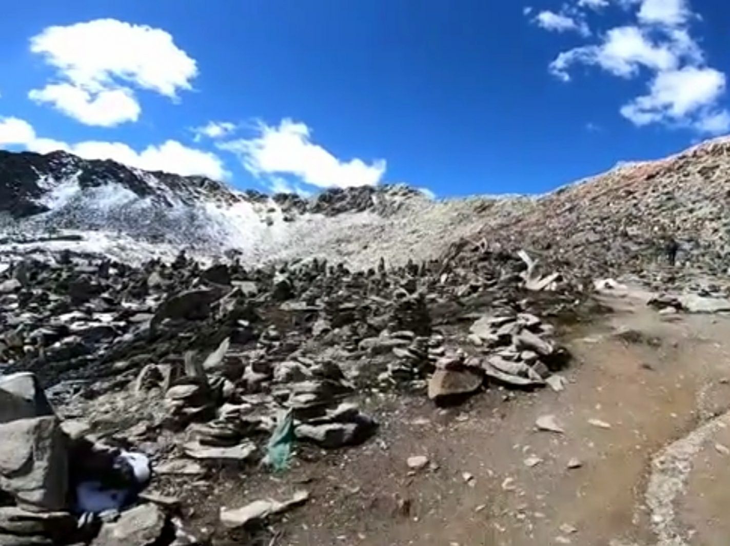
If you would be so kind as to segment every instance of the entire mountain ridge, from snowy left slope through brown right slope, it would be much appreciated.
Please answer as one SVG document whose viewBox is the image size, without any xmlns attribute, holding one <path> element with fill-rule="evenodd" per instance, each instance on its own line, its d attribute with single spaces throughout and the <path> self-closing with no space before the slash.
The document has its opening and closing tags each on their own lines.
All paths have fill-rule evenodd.
<svg viewBox="0 0 730 546">
<path fill-rule="evenodd" d="M 61 152 L 0 152 L 0 259 L 68 249 L 142 263 L 187 248 L 247 264 L 316 256 L 360 269 L 460 245 L 525 248 L 542 266 L 583 277 L 646 277 L 675 240 L 680 271 L 716 276 L 730 266 L 729 154 L 730 143 L 716 139 L 545 196 L 437 202 L 404 186 L 266 196 Z"/>
</svg>

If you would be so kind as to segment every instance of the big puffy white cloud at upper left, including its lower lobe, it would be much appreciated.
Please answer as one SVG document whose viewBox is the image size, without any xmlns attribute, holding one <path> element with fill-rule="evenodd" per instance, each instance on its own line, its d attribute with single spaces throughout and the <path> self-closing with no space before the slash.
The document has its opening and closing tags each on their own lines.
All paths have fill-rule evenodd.
<svg viewBox="0 0 730 546">
<path fill-rule="evenodd" d="M 59 81 L 30 91 L 29 98 L 87 125 L 137 120 L 133 87 L 176 99 L 198 73 L 166 31 L 115 19 L 50 26 L 31 38 L 31 52 L 56 69 Z"/>
</svg>

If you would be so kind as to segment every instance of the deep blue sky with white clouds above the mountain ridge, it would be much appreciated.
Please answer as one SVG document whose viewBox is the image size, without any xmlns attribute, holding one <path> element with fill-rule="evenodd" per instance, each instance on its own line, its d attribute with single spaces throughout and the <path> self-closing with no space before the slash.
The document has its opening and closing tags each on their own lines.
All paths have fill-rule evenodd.
<svg viewBox="0 0 730 546">
<path fill-rule="evenodd" d="M 0 35 L 0 147 L 237 188 L 537 193 L 730 130 L 724 0 L 37 0 Z"/>
</svg>

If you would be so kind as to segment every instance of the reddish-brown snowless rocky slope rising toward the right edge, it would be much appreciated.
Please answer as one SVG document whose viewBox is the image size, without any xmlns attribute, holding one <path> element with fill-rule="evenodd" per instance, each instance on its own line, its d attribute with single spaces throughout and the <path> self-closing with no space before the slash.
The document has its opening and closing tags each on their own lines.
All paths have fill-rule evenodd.
<svg viewBox="0 0 730 546">
<path fill-rule="evenodd" d="M 629 276 L 655 288 L 714 284 L 730 268 L 730 142 L 617 166 L 519 208 L 485 207 L 473 244 L 458 252 L 524 248 L 545 272 L 588 282 Z M 672 246 L 676 267 L 666 272 Z"/>
</svg>

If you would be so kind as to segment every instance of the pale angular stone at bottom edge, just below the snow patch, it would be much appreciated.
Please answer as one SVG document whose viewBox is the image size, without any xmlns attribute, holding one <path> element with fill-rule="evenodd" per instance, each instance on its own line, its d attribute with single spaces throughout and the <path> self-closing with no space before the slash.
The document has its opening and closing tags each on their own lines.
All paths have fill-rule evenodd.
<svg viewBox="0 0 730 546">
<path fill-rule="evenodd" d="M 123 512 L 114 523 L 104 523 L 91 546 L 151 546 L 158 544 L 166 516 L 155 504 L 140 504 Z"/>
</svg>

